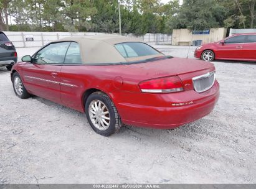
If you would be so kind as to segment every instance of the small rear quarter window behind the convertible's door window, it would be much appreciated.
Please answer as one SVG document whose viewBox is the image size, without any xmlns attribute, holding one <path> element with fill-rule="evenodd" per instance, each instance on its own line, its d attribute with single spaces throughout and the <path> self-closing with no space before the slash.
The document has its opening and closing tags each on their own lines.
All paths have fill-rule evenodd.
<svg viewBox="0 0 256 189">
<path fill-rule="evenodd" d="M 69 49 L 67 50 L 64 63 L 82 63 L 79 44 L 77 44 L 76 42 L 72 42 L 69 45 Z"/>
</svg>

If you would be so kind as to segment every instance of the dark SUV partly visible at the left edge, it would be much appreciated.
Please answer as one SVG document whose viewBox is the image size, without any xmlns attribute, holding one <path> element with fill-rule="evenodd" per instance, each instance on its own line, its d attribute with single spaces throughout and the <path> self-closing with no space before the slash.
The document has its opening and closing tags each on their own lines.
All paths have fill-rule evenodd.
<svg viewBox="0 0 256 189">
<path fill-rule="evenodd" d="M 4 32 L 0 32 L 0 67 L 12 69 L 12 65 L 17 62 L 17 52 Z"/>
</svg>

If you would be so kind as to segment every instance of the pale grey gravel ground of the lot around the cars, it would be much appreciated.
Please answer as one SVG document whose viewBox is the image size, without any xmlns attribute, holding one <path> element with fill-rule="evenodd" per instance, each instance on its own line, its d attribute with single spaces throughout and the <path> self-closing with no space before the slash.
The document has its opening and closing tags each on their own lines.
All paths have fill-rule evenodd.
<svg viewBox="0 0 256 189">
<path fill-rule="evenodd" d="M 156 48 L 176 57 L 188 49 Z M 17 98 L 0 68 L 0 183 L 255 183 L 256 63 L 214 64 L 221 93 L 211 114 L 173 130 L 123 126 L 111 137 L 82 113 Z"/>
</svg>

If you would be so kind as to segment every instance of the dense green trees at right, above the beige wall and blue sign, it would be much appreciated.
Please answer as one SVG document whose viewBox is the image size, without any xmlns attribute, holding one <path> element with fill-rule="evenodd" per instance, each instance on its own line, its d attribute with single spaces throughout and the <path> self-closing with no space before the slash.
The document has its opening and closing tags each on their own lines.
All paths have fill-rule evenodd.
<svg viewBox="0 0 256 189">
<path fill-rule="evenodd" d="M 256 0 L 184 0 L 179 9 L 174 9 L 169 14 L 166 28 L 169 32 L 181 28 L 255 28 L 255 2 Z"/>
</svg>

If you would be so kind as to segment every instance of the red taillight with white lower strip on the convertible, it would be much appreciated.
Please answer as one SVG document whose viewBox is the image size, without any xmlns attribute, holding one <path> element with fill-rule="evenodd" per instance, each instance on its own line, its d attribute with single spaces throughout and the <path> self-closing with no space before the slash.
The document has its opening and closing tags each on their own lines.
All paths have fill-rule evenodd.
<svg viewBox="0 0 256 189">
<path fill-rule="evenodd" d="M 139 86 L 143 93 L 175 93 L 184 90 L 178 76 L 142 81 Z"/>
</svg>

